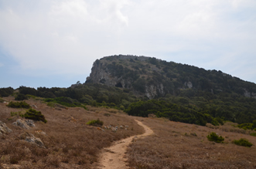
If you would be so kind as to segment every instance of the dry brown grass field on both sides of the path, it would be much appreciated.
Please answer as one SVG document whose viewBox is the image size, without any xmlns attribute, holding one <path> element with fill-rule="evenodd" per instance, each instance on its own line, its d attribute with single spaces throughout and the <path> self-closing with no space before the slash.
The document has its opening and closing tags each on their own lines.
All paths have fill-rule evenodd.
<svg viewBox="0 0 256 169">
<path fill-rule="evenodd" d="M 14 100 L 10 96 L 3 98 Z M 249 131 L 225 123 L 221 127 L 197 126 L 195 124 L 172 122 L 166 119 L 129 117 L 120 110 L 87 106 L 83 108 L 60 108 L 46 106 L 41 100 L 26 100 L 36 105 L 46 117 L 47 123 L 36 122 L 36 127 L 24 130 L 12 125 L 18 116 L 11 112 L 26 110 L 13 109 L 0 103 L 0 120 L 13 130 L 0 135 L 0 166 L 2 164 L 20 168 L 97 168 L 99 154 L 115 140 L 121 140 L 144 130 L 134 119 L 142 121 L 155 134 L 138 139 L 130 144 L 126 156 L 130 168 L 256 168 L 256 137 Z M 104 126 L 128 125 L 128 130 L 117 132 L 88 126 L 89 120 L 104 121 Z M 46 135 L 36 133 L 42 130 Z M 20 139 L 28 132 L 43 140 L 46 148 L 37 147 Z M 207 135 L 216 132 L 225 138 L 224 144 L 207 140 Z M 232 140 L 247 138 L 252 147 L 232 144 Z M 1 167 L 0 167 L 1 168 Z"/>
</svg>

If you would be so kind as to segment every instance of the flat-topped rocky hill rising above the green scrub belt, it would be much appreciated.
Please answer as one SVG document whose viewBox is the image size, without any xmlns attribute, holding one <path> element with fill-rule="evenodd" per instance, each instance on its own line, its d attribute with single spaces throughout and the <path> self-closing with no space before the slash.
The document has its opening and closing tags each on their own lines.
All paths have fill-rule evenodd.
<svg viewBox="0 0 256 169">
<path fill-rule="evenodd" d="M 220 70 L 206 70 L 186 64 L 166 62 L 145 56 L 106 56 L 97 59 L 86 83 L 127 88 L 148 99 L 199 92 L 236 93 L 256 98 L 256 84 L 246 82 Z"/>
</svg>

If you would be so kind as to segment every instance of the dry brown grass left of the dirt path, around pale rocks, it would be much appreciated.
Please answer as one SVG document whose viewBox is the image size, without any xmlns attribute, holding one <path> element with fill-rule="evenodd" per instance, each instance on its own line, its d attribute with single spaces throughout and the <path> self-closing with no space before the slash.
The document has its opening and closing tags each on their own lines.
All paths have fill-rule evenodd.
<svg viewBox="0 0 256 169">
<path fill-rule="evenodd" d="M 4 98 L 6 101 L 13 97 Z M 27 100 L 36 105 L 46 117 L 47 123 L 36 122 L 32 130 L 15 127 L 12 123 L 21 118 L 11 117 L 11 112 L 24 110 L 13 109 L 0 103 L 0 120 L 5 122 L 12 133 L 0 136 L 0 164 L 19 164 L 22 168 L 92 168 L 96 167 L 98 154 L 104 147 L 109 147 L 114 140 L 121 140 L 135 134 L 142 134 L 142 127 L 118 110 L 96 108 L 54 108 L 46 106 L 40 100 Z M 128 125 L 128 130 L 118 129 L 117 132 L 88 126 L 89 120 L 99 118 L 104 126 Z M 40 131 L 46 135 L 40 134 Z M 37 132 L 36 132 L 37 131 Z M 34 134 L 43 140 L 46 148 L 37 147 L 20 139 L 24 132 Z"/>
</svg>

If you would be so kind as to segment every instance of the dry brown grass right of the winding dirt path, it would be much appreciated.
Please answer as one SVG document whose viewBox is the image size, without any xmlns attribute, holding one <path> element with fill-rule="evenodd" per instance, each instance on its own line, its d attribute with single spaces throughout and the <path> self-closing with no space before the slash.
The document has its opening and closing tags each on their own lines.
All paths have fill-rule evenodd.
<svg viewBox="0 0 256 169">
<path fill-rule="evenodd" d="M 154 130 L 155 135 L 137 140 L 128 148 L 131 168 L 255 168 L 256 137 L 242 134 L 232 123 L 213 129 L 165 119 L 138 118 Z M 207 140 L 215 132 L 224 144 Z M 232 144 L 247 138 L 251 148 Z"/>
</svg>

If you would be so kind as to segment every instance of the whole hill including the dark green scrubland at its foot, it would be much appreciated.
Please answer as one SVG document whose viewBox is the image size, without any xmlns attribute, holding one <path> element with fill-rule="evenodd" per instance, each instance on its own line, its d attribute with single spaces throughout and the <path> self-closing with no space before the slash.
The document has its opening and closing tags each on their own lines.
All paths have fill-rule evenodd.
<svg viewBox="0 0 256 169">
<path fill-rule="evenodd" d="M 145 56 L 97 59 L 86 83 L 77 82 L 68 88 L 0 89 L 0 96 L 9 95 L 15 100 L 43 97 L 49 106 L 104 106 L 131 116 L 165 117 L 203 126 L 229 120 L 256 130 L 254 83 L 217 70 Z"/>
</svg>

